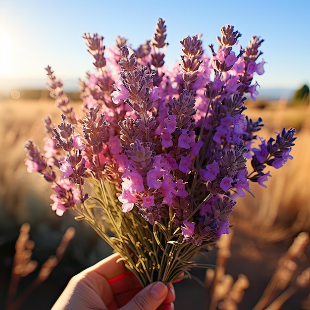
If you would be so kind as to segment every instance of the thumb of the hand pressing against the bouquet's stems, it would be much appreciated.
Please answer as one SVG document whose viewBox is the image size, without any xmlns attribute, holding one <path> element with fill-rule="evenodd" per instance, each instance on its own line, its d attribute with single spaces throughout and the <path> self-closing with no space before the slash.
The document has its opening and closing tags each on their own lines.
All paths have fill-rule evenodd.
<svg viewBox="0 0 310 310">
<path fill-rule="evenodd" d="M 151 283 L 119 310 L 156 310 L 166 299 L 168 288 L 162 282 Z"/>
</svg>

